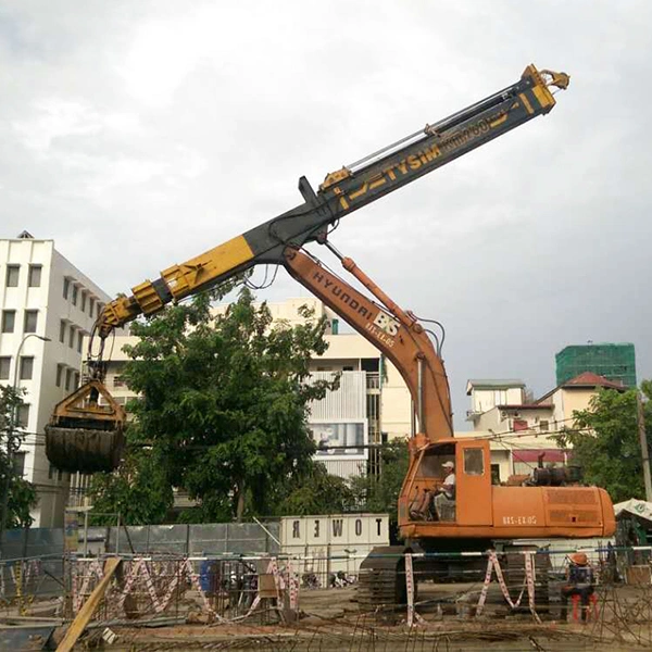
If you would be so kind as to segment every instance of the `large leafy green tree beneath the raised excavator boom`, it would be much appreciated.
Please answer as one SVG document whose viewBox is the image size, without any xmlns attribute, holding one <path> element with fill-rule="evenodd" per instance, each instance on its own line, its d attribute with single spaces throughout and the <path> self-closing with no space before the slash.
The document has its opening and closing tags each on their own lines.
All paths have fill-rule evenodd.
<svg viewBox="0 0 652 652">
<path fill-rule="evenodd" d="M 164 476 L 156 491 L 183 488 L 199 502 L 183 515 L 192 522 L 274 513 L 312 464 L 308 403 L 335 387 L 306 383 L 311 359 L 327 348 L 325 319 L 302 310 L 304 324 L 273 325 L 267 306 L 256 309 L 246 288 L 213 317 L 211 299 L 201 294 L 135 324 L 139 341 L 128 348 L 124 372 L 140 397 L 129 405 L 128 443 L 149 446 Z M 128 477 L 142 478 L 135 464 Z M 118 491 L 120 476 L 102 485 L 106 506 L 118 502 L 116 493 L 129 502 L 138 486 L 123 482 L 127 491 Z"/>
</svg>

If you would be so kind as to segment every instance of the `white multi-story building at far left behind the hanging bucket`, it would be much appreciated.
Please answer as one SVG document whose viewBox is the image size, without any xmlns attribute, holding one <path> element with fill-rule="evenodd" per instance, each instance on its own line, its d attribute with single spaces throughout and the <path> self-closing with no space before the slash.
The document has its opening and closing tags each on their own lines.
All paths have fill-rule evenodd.
<svg viewBox="0 0 652 652">
<path fill-rule="evenodd" d="M 27 437 L 17 467 L 38 490 L 35 527 L 63 524 L 68 478 L 46 457 L 43 427 L 53 406 L 78 386 L 85 336 L 109 300 L 53 240 L 27 233 L 0 239 L 0 383 L 15 377 L 26 390 L 20 422 Z"/>
</svg>

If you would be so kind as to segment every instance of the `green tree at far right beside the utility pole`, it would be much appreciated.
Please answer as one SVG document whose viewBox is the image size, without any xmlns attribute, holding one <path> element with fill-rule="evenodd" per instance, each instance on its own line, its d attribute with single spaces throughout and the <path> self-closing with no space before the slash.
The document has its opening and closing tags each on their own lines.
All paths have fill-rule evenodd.
<svg viewBox="0 0 652 652">
<path fill-rule="evenodd" d="M 652 384 L 642 384 L 652 398 Z M 652 442 L 652 403 L 644 406 L 648 441 Z M 607 490 L 614 502 L 645 497 L 638 434 L 637 390 L 599 391 L 587 410 L 573 413 L 574 425 L 559 436 L 573 447 L 573 462 L 581 467 L 584 481 Z"/>
</svg>

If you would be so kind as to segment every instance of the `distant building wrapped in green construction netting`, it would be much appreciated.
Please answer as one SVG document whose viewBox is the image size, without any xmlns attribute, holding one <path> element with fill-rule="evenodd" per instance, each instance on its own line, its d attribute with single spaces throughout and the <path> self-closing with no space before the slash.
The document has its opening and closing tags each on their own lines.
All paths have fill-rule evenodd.
<svg viewBox="0 0 652 652">
<path fill-rule="evenodd" d="M 632 343 L 589 343 L 565 347 L 554 356 L 556 383 L 590 372 L 612 383 L 636 387 L 636 351 Z"/>
</svg>

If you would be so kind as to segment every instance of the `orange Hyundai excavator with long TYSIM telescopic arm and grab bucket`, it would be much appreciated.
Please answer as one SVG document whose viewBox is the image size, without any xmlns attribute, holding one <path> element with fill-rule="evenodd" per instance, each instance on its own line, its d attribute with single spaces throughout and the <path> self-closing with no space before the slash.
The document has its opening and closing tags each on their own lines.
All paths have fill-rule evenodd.
<svg viewBox="0 0 652 652">
<path fill-rule="evenodd" d="M 424 576 L 453 577 L 466 572 L 462 550 L 484 551 L 500 542 L 506 549 L 517 539 L 609 537 L 615 530 L 609 494 L 594 487 L 568 486 L 563 473 L 541 472 L 530 486 L 492 485 L 489 441 L 453 437 L 441 342 L 435 339 L 434 343 L 431 331 L 397 305 L 328 237 L 344 215 L 548 114 L 556 103 L 553 89 L 566 89 L 568 82 L 564 73 L 528 65 L 515 84 L 328 174 L 317 191 L 301 177 L 303 203 L 164 269 L 155 280 L 134 287 L 130 296 L 108 303 L 98 317 L 95 334 L 103 348 L 116 328 L 140 315 L 153 315 L 255 265 L 283 265 L 396 365 L 414 405 L 410 464 L 398 505 L 405 544 L 375 550 L 362 563 L 361 605 L 404 602 L 400 578 L 405 552 L 426 553 L 419 562 Z M 329 249 L 372 298 L 309 253 L 305 246 L 313 242 Z M 125 413 L 103 385 L 101 355 L 89 368 L 90 379 L 57 405 L 46 429 L 47 455 L 63 471 L 111 471 L 124 447 Z M 438 515 L 415 510 L 424 496 L 441 487 L 446 463 L 455 468 L 453 509 Z M 428 553 L 435 553 L 432 559 Z M 515 568 L 522 572 L 523 562 Z"/>
</svg>

